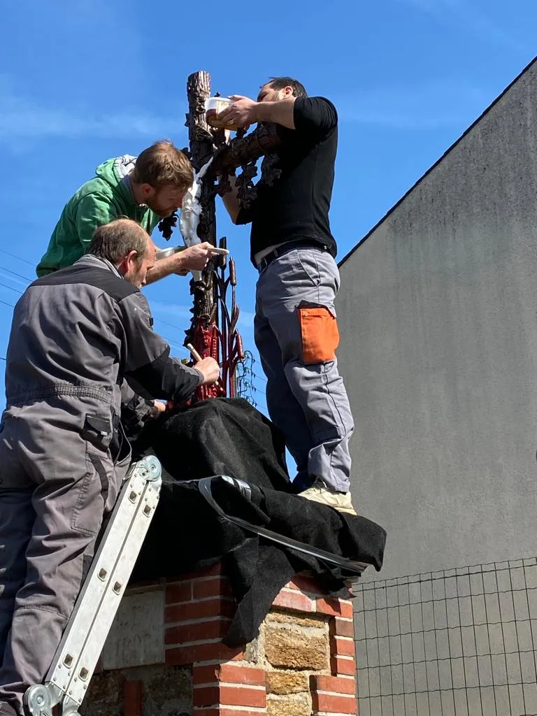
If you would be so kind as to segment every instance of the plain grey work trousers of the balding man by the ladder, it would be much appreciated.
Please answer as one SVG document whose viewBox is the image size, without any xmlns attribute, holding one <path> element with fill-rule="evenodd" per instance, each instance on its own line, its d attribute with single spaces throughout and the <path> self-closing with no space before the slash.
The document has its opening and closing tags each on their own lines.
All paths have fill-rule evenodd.
<svg viewBox="0 0 537 716">
<path fill-rule="evenodd" d="M 97 412 L 110 415 L 110 406 Z M 130 462 L 130 448 L 112 460 L 111 424 L 103 436 L 86 422 L 78 397 L 11 407 L 2 418 L 0 700 L 21 714 L 24 692 L 52 664 Z"/>
</svg>

